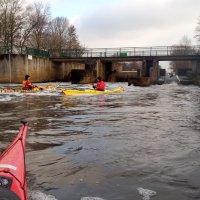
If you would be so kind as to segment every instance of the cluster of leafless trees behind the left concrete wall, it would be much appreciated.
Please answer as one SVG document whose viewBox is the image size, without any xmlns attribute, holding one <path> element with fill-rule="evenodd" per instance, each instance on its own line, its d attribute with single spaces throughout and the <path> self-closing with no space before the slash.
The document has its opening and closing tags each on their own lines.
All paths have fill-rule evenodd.
<svg viewBox="0 0 200 200">
<path fill-rule="evenodd" d="M 24 46 L 46 50 L 70 49 L 79 56 L 84 50 L 75 26 L 69 26 L 64 17 L 51 20 L 48 4 L 37 2 L 25 7 L 23 0 L 0 0 L 0 46 L 9 47 L 13 52 L 15 45 L 21 52 Z"/>
</svg>

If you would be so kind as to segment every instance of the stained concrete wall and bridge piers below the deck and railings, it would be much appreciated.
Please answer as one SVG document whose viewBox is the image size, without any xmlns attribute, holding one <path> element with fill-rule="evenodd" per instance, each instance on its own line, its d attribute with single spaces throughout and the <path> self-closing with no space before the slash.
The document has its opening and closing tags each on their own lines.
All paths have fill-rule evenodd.
<svg viewBox="0 0 200 200">
<path fill-rule="evenodd" d="M 5 54 L 0 56 L 0 83 L 21 83 L 26 74 L 33 82 L 91 83 L 97 76 L 109 82 L 140 78 L 152 83 L 158 79 L 158 61 L 144 60 L 142 63 L 135 71 L 123 71 L 122 63 L 112 60 L 52 61 L 37 56 Z"/>
</svg>

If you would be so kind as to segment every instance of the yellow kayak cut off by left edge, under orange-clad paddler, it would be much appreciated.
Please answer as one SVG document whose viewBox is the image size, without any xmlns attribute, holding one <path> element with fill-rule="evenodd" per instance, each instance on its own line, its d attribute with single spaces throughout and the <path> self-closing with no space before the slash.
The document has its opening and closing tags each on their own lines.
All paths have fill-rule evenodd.
<svg viewBox="0 0 200 200">
<path fill-rule="evenodd" d="M 59 85 L 45 85 L 45 86 L 38 86 L 32 90 L 22 90 L 22 89 L 0 89 L 0 93 L 33 93 L 33 92 L 40 92 L 40 91 L 44 91 L 44 90 L 53 90 L 56 89 Z"/>
</svg>

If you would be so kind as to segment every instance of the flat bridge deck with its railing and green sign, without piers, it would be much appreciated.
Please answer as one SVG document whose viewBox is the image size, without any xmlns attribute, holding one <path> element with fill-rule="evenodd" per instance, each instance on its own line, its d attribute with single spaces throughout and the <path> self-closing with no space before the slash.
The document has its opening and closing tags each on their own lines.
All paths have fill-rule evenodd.
<svg viewBox="0 0 200 200">
<path fill-rule="evenodd" d="M 197 46 L 157 46 L 129 48 L 96 48 L 83 50 L 58 49 L 49 50 L 50 59 L 54 61 L 101 59 L 102 61 L 137 61 L 143 59 L 199 60 L 200 49 Z"/>
</svg>

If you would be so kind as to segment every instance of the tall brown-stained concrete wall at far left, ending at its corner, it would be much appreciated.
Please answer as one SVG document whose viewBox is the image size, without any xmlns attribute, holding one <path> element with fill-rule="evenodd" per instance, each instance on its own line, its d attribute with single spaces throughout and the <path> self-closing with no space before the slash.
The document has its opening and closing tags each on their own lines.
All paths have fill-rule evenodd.
<svg viewBox="0 0 200 200">
<path fill-rule="evenodd" d="M 29 74 L 33 82 L 53 80 L 51 61 L 47 58 L 27 55 L 1 55 L 0 56 L 0 83 L 21 83 L 24 76 Z"/>
</svg>

